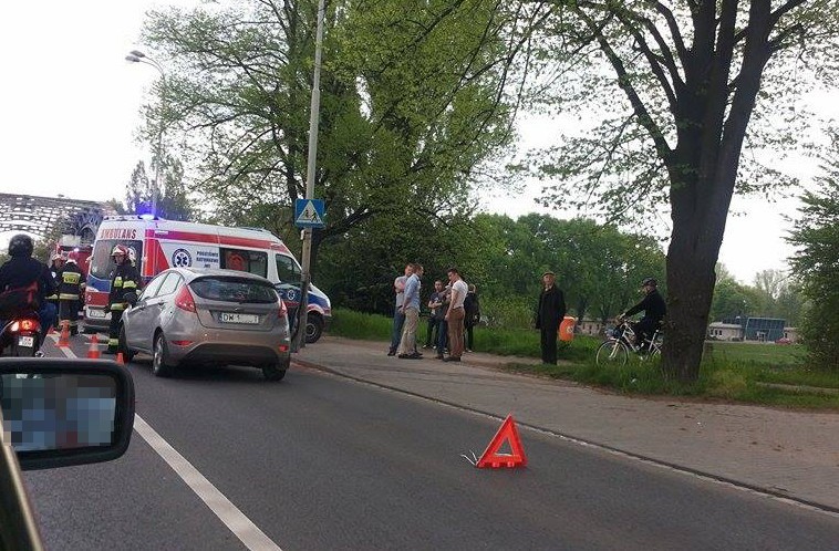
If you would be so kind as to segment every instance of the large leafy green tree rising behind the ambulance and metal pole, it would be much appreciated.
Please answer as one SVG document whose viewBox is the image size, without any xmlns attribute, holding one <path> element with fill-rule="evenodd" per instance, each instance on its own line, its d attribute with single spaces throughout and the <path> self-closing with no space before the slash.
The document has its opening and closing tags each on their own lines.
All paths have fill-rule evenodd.
<svg viewBox="0 0 839 551">
<path fill-rule="evenodd" d="M 290 235 L 305 187 L 315 6 L 240 0 L 146 24 L 169 72 L 167 128 L 185 135 L 196 189 L 220 221 Z M 313 260 L 321 242 L 383 212 L 469 211 L 473 170 L 509 137 L 506 69 L 524 39 L 505 13 L 487 0 L 328 2 L 314 175 L 327 227 Z"/>
</svg>

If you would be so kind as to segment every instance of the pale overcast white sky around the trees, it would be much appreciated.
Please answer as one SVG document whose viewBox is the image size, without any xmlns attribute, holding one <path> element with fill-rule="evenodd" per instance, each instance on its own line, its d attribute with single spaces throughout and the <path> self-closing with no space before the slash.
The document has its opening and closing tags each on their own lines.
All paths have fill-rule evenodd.
<svg viewBox="0 0 839 551">
<path fill-rule="evenodd" d="M 158 73 L 128 63 L 138 44 L 144 13 L 159 6 L 195 0 L 0 3 L 0 191 L 91 200 L 123 199 L 125 184 L 148 148 L 135 141 L 139 106 Z M 165 60 L 158 60 L 165 65 Z M 531 127 L 532 125 L 528 125 Z M 539 128 L 529 129 L 537 135 Z M 791 166 L 809 177 L 811 164 Z M 539 186 L 495 200 L 490 209 L 518 216 L 537 210 Z M 731 217 L 721 261 L 742 282 L 755 273 L 784 269 L 791 252 L 783 237 L 790 229 L 796 199 L 768 204 L 735 199 L 744 216 Z"/>
</svg>

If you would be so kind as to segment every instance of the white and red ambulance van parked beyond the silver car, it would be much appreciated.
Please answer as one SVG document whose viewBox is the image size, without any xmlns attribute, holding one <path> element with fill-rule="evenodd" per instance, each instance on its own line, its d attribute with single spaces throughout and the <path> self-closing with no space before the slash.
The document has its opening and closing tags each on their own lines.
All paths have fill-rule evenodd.
<svg viewBox="0 0 839 551">
<path fill-rule="evenodd" d="M 227 228 L 143 216 L 106 217 L 96 231 L 84 293 L 84 331 L 107 331 L 105 312 L 115 264 L 115 245 L 128 248 L 145 287 L 169 268 L 226 268 L 256 273 L 275 283 L 289 310 L 300 304 L 301 269 L 286 245 L 265 229 Z M 309 291 L 305 341 L 320 339 L 332 315 L 329 298 L 313 284 Z"/>
</svg>

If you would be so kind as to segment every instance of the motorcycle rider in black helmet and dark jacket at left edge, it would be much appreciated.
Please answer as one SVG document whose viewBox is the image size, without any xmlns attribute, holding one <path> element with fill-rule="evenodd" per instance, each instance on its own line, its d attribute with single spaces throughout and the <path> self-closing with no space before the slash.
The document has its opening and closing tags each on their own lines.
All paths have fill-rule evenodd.
<svg viewBox="0 0 839 551">
<path fill-rule="evenodd" d="M 0 266 L 0 292 L 37 285 L 33 303 L 21 304 L 18 311 L 9 311 L 9 313 L 13 315 L 23 308 L 33 310 L 41 323 L 40 342 L 43 343 L 46 332 L 55 324 L 55 305 L 49 302 L 46 297 L 55 294 L 56 290 L 50 269 L 43 262 L 32 258 L 33 250 L 32 238 L 25 233 L 19 233 L 9 240 L 11 258 Z"/>
</svg>

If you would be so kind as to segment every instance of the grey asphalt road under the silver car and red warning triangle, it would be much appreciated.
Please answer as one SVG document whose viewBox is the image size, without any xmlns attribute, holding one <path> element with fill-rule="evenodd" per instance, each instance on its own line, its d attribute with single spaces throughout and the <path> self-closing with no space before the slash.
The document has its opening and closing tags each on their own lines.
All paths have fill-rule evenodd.
<svg viewBox="0 0 839 551">
<path fill-rule="evenodd" d="M 460 454 L 480 454 L 499 420 L 322 372 L 268 383 L 249 368 L 148 367 L 130 366 L 138 416 L 287 551 L 839 541 L 836 516 L 528 429 L 527 468 L 476 469 Z M 247 549 L 136 432 L 116 461 L 25 479 L 51 550 Z"/>
</svg>

